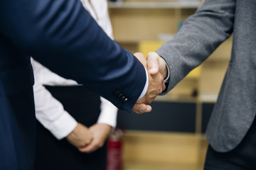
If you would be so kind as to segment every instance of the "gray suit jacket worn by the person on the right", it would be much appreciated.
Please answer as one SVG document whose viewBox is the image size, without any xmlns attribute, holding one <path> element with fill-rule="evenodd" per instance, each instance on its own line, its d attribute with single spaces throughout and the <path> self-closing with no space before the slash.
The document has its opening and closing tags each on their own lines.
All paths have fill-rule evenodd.
<svg viewBox="0 0 256 170">
<path fill-rule="evenodd" d="M 256 112 L 256 1 L 206 0 L 156 52 L 171 72 L 168 91 L 233 33 L 233 49 L 206 135 L 218 152 L 234 149 Z"/>
</svg>

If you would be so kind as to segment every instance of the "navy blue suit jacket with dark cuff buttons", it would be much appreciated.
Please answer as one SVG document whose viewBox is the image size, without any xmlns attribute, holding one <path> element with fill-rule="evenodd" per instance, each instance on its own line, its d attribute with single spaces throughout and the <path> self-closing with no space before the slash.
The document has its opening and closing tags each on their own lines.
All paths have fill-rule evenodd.
<svg viewBox="0 0 256 170">
<path fill-rule="evenodd" d="M 33 169 L 35 115 L 30 56 L 131 111 L 146 74 L 80 1 L 0 1 L 0 169 Z"/>
</svg>

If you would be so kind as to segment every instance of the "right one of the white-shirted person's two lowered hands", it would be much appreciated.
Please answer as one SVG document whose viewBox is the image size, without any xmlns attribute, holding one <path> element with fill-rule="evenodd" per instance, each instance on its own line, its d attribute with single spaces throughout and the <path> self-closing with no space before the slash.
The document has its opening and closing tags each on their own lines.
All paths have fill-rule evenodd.
<svg viewBox="0 0 256 170">
<path fill-rule="evenodd" d="M 92 125 L 89 130 L 93 135 L 92 142 L 85 147 L 78 148 L 80 152 L 90 153 L 102 147 L 110 134 L 111 126 L 104 123 L 96 123 Z"/>
</svg>

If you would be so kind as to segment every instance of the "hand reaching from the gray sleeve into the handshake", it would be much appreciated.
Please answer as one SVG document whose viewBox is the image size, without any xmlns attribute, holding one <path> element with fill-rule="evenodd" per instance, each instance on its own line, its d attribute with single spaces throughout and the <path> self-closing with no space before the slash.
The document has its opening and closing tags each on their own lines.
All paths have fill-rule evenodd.
<svg viewBox="0 0 256 170">
<path fill-rule="evenodd" d="M 168 76 L 166 62 L 156 52 L 149 52 L 146 57 L 149 74 L 154 75 L 160 72 L 164 79 Z"/>
</svg>

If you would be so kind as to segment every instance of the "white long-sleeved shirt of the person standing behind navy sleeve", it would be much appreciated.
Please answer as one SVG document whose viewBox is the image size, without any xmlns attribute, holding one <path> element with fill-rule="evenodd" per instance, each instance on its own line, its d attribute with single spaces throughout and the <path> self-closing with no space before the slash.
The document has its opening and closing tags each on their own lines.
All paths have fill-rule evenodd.
<svg viewBox="0 0 256 170">
<path fill-rule="evenodd" d="M 97 23 L 102 27 L 103 30 L 113 38 L 112 26 L 107 11 L 106 0 L 81 0 L 83 6 L 90 12 Z M 43 85 L 50 86 L 70 86 L 78 85 L 76 81 L 70 79 L 64 79 L 57 74 L 51 72 L 46 67 L 43 67 L 40 63 L 31 59 L 33 66 L 35 85 L 34 96 L 36 106 L 36 118 L 37 120 L 47 128 L 58 140 L 66 137 L 72 132 L 77 121 L 64 110 L 63 105 L 53 96 Z M 144 95 L 143 95 L 144 96 Z M 117 120 L 117 108 L 107 101 L 105 98 L 100 97 L 100 116 L 97 123 L 105 123 L 114 128 Z M 86 111 L 85 111 L 86 112 Z"/>
</svg>

